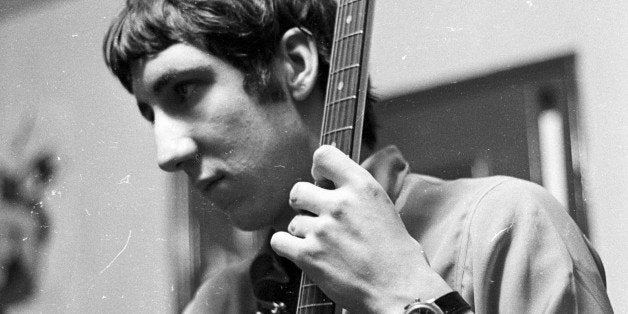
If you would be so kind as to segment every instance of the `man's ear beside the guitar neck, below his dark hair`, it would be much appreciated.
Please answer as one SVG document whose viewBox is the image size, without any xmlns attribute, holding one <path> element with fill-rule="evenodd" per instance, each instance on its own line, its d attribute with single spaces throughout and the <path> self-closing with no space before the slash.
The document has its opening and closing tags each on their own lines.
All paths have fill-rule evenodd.
<svg viewBox="0 0 628 314">
<path fill-rule="evenodd" d="M 281 38 L 283 66 L 292 98 L 303 101 L 317 85 L 318 49 L 314 37 L 299 28 L 291 28 Z"/>
</svg>

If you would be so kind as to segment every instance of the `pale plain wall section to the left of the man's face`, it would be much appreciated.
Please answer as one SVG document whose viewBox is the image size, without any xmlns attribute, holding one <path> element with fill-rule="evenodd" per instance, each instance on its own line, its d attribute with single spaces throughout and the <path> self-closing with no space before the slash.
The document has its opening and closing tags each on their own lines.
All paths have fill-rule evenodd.
<svg viewBox="0 0 628 314">
<path fill-rule="evenodd" d="M 25 150 L 50 149 L 59 169 L 45 200 L 52 226 L 40 291 L 18 312 L 173 312 L 169 181 L 156 167 L 149 124 L 101 53 L 120 4 L 2 10 L 0 152 L 20 118 L 36 112 Z"/>
</svg>

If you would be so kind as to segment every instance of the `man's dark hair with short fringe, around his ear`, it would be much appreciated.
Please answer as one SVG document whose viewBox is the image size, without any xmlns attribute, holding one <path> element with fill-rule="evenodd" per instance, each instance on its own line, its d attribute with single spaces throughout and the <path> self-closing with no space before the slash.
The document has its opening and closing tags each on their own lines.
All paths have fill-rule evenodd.
<svg viewBox="0 0 628 314">
<path fill-rule="evenodd" d="M 272 71 L 283 34 L 299 27 L 314 37 L 325 89 L 336 14 L 335 0 L 127 0 L 107 32 L 105 63 L 133 93 L 131 65 L 176 43 L 226 60 L 244 73 L 244 90 L 260 101 L 285 99 Z M 364 141 L 375 143 L 367 106 Z"/>
</svg>

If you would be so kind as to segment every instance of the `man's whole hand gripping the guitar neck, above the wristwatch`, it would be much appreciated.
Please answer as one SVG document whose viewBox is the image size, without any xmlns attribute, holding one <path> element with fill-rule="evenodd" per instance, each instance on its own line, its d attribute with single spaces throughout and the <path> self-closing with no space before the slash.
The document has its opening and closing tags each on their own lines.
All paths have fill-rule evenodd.
<svg viewBox="0 0 628 314">
<path fill-rule="evenodd" d="M 356 313 L 400 313 L 416 298 L 449 291 L 428 265 L 379 183 L 340 150 L 314 153 L 312 176 L 334 190 L 299 182 L 290 206 L 301 214 L 271 246 L 297 264 L 336 303 Z"/>
</svg>

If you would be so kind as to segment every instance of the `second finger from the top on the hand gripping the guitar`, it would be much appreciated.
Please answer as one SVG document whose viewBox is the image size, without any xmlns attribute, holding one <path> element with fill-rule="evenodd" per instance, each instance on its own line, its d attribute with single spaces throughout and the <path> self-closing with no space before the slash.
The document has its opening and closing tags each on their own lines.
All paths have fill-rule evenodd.
<svg viewBox="0 0 628 314">
<path fill-rule="evenodd" d="M 296 211 L 308 211 L 320 216 L 335 204 L 334 193 L 312 183 L 297 182 L 290 190 L 290 206 Z"/>
</svg>

